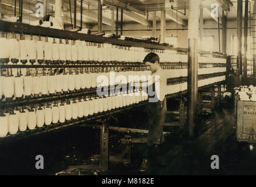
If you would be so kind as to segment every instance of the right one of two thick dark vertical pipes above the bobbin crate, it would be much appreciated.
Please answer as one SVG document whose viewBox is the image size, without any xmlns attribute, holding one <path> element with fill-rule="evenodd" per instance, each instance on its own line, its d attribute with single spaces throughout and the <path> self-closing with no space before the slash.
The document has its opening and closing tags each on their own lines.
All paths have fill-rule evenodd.
<svg viewBox="0 0 256 187">
<path fill-rule="evenodd" d="M 248 36 L 248 0 L 245 0 L 244 11 L 244 77 L 247 77 L 247 36 Z"/>
</svg>

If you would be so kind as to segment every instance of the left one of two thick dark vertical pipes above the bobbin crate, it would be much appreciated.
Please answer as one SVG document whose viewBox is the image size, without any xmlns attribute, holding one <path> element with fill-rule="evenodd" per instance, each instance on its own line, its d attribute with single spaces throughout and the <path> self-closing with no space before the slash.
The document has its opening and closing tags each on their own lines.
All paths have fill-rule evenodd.
<svg viewBox="0 0 256 187">
<path fill-rule="evenodd" d="M 238 75 L 243 75 L 242 22 L 243 22 L 243 0 L 237 0 L 237 70 L 238 70 Z"/>
</svg>

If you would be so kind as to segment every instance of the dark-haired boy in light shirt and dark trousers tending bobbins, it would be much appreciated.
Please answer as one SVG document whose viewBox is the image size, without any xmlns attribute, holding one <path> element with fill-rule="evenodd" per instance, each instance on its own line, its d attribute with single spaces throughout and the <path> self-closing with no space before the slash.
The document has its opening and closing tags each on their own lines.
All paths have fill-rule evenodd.
<svg viewBox="0 0 256 187">
<path fill-rule="evenodd" d="M 167 112 L 166 106 L 166 88 L 167 79 L 164 71 L 160 68 L 159 56 L 155 53 L 149 53 L 143 60 L 151 71 L 151 79 L 147 81 L 148 91 L 148 137 L 147 137 L 147 152 L 143 163 L 139 168 L 140 172 L 150 170 L 150 165 L 156 164 L 159 154 L 158 146 L 164 142 L 162 129 L 165 122 Z M 143 88 L 143 84 L 140 84 Z"/>
</svg>

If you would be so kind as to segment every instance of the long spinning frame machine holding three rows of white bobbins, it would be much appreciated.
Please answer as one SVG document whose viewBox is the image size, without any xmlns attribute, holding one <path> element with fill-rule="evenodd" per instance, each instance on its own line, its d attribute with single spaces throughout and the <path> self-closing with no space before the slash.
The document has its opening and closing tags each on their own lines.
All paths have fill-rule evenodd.
<svg viewBox="0 0 256 187">
<path fill-rule="evenodd" d="M 188 87 L 186 49 L 2 20 L 0 28 L 0 144 L 75 125 L 98 127 L 101 129 L 101 154 L 94 158 L 100 160 L 100 165 L 75 166 L 67 171 L 78 168 L 107 171 L 109 161 L 129 164 L 132 143 L 141 143 L 143 140 L 132 140 L 130 136 L 125 136 L 122 139 L 126 145 L 124 152 L 109 157 L 109 130 L 147 131 L 111 127 L 108 121 L 115 113 L 143 107 L 148 96 L 133 86 L 126 93 L 120 89 L 116 95 L 99 97 L 96 94 L 96 77 L 109 77 L 111 70 L 124 77 L 149 75 L 141 60 L 150 51 L 160 56 L 160 66 L 167 76 L 167 98 L 181 99 L 180 122 L 175 125 L 185 127 L 184 98 Z M 198 61 L 199 90 L 224 84 L 226 56 L 202 53 Z M 128 81 L 127 87 L 130 83 Z M 109 92 L 117 85 L 104 86 Z M 131 92 L 138 94 L 129 96 L 127 93 Z M 89 124 L 93 120 L 101 125 Z"/>
</svg>

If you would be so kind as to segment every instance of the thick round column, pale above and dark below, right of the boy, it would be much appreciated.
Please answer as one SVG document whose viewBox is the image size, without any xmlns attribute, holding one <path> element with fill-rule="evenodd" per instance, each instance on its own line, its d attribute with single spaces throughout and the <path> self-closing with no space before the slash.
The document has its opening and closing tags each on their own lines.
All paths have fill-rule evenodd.
<svg viewBox="0 0 256 187">
<path fill-rule="evenodd" d="M 198 30 L 200 0 L 189 1 L 188 19 L 188 108 L 189 136 L 195 136 L 196 104 L 198 98 Z"/>
</svg>

